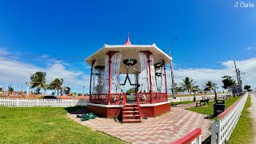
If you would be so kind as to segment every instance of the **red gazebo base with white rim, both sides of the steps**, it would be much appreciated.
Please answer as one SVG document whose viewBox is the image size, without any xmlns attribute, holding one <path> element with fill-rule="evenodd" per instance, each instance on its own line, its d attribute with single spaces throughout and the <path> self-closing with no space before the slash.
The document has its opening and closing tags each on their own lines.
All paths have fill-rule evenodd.
<svg viewBox="0 0 256 144">
<path fill-rule="evenodd" d="M 158 102 L 153 104 L 140 104 L 142 118 L 154 118 L 170 111 L 170 102 Z M 122 105 L 101 105 L 88 103 L 87 111 L 93 112 L 104 118 L 118 118 L 122 116 Z"/>
</svg>

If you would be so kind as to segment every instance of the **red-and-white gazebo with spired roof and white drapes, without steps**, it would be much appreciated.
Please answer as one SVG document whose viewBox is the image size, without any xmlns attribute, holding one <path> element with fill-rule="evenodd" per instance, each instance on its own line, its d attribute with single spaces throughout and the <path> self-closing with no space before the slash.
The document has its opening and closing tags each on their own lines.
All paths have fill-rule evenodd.
<svg viewBox="0 0 256 144">
<path fill-rule="evenodd" d="M 127 103 L 138 103 L 142 107 L 154 107 L 168 104 L 166 87 L 166 63 L 172 59 L 153 45 L 132 45 L 128 38 L 124 45 L 104 45 L 86 58 L 91 66 L 90 73 L 90 110 L 96 112 L 97 107 L 124 107 Z M 121 82 L 120 75 L 126 79 Z M 134 83 L 130 75 L 134 75 Z M 160 79 L 160 82 L 157 81 Z M 126 82 L 134 86 L 134 100 L 127 100 L 122 91 Z M 90 107 L 89 106 L 89 107 Z M 162 108 L 161 108 L 162 109 Z M 170 111 L 170 107 L 167 111 Z M 107 110 L 106 110 L 107 111 Z M 162 110 L 166 112 L 166 110 Z M 101 113 L 102 112 L 96 112 Z M 111 114 L 102 114 L 112 117 Z M 143 115 L 143 114 L 142 114 Z"/>
</svg>

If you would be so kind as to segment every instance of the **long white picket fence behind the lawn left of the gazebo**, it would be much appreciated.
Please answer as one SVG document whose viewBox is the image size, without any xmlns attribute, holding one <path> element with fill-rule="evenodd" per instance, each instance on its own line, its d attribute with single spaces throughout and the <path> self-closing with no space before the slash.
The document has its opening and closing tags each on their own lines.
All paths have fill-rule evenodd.
<svg viewBox="0 0 256 144">
<path fill-rule="evenodd" d="M 81 99 L 26 99 L 0 98 L 0 106 L 87 106 L 88 101 Z"/>
</svg>

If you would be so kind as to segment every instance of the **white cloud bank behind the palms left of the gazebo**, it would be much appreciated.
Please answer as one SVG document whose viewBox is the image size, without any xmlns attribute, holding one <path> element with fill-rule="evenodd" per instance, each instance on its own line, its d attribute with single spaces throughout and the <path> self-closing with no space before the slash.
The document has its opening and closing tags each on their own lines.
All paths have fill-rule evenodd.
<svg viewBox="0 0 256 144">
<path fill-rule="evenodd" d="M 21 90 L 22 86 L 26 86 L 29 73 L 45 71 L 47 83 L 53 81 L 54 78 L 63 78 L 63 86 L 70 86 L 71 91 L 82 92 L 82 86 L 86 86 L 85 91 L 89 91 L 90 75 L 84 74 L 82 71 L 68 70 L 66 65 L 54 62 L 48 63 L 46 67 L 40 67 L 0 57 L 0 86 L 6 87 L 7 82 L 14 86 L 14 82 L 17 82 L 17 90 Z"/>
</svg>

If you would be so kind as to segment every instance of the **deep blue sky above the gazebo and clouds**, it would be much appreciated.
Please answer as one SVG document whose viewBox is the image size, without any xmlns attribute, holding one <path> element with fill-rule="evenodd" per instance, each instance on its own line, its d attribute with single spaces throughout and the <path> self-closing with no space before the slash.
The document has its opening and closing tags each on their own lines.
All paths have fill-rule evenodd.
<svg viewBox="0 0 256 144">
<path fill-rule="evenodd" d="M 105 43 L 123 44 L 128 31 L 133 44 L 156 43 L 166 52 L 178 36 L 171 48 L 178 81 L 187 75 L 202 85 L 202 70 L 224 70 L 218 77 L 234 75 L 231 67 L 225 73 L 233 64 L 228 59 L 240 62 L 242 69 L 256 52 L 256 7 L 234 7 L 235 2 L 0 1 L 0 58 L 26 69 L 0 66 L 0 86 L 26 82 L 27 74 L 14 71 L 48 70 L 54 73 L 49 81 L 73 75 L 65 85 L 81 91 L 90 72 L 84 58 Z M 179 70 L 188 73 L 180 75 Z M 254 86 L 249 79 L 246 82 Z"/>
</svg>

